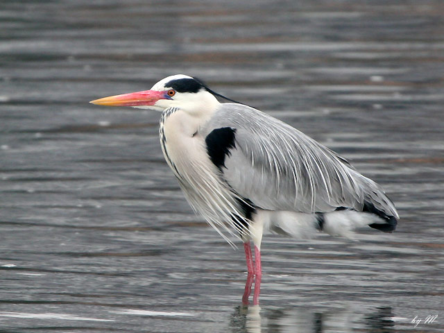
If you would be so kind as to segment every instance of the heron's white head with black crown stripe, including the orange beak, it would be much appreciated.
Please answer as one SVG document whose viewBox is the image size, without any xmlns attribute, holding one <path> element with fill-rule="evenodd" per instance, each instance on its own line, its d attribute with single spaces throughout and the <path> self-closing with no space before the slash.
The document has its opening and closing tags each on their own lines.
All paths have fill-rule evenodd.
<svg viewBox="0 0 444 333">
<path fill-rule="evenodd" d="M 189 113 L 213 110 L 219 103 L 211 90 L 191 76 L 178 74 L 157 82 L 151 90 L 96 99 L 89 103 L 109 106 L 131 106 L 163 111 L 177 107 Z"/>
</svg>

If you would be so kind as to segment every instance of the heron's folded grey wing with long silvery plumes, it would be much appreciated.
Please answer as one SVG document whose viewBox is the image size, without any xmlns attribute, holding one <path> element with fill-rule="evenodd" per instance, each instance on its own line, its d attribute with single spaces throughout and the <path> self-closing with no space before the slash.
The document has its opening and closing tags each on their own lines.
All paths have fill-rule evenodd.
<svg viewBox="0 0 444 333">
<path fill-rule="evenodd" d="M 370 207 L 398 217 L 379 185 L 296 128 L 236 103 L 221 104 L 203 135 L 221 128 L 234 133 L 222 176 L 257 207 L 305 213 Z"/>
</svg>

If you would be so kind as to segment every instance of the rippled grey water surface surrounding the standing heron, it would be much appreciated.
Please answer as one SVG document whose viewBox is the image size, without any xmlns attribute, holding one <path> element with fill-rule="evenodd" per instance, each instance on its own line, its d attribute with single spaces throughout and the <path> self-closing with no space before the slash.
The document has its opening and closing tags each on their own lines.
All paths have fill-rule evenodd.
<svg viewBox="0 0 444 333">
<path fill-rule="evenodd" d="M 442 1 L 8 1 L 0 17 L 1 332 L 444 330 Z M 191 212 L 160 114 L 87 103 L 178 73 L 352 160 L 397 232 L 268 236 L 260 308 L 240 307 L 243 251 Z"/>
</svg>

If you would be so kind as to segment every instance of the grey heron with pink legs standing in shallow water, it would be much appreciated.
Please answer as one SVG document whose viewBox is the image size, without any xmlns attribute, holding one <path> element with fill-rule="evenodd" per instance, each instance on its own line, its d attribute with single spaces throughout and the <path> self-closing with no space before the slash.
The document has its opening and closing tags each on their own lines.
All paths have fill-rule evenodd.
<svg viewBox="0 0 444 333">
<path fill-rule="evenodd" d="M 307 238 L 318 232 L 350 237 L 366 225 L 395 230 L 398 213 L 376 182 L 296 128 L 197 78 L 169 76 L 150 90 L 91 103 L 162 112 L 165 160 L 194 211 L 229 243 L 230 236 L 244 242 L 256 303 L 264 232 Z"/>
</svg>

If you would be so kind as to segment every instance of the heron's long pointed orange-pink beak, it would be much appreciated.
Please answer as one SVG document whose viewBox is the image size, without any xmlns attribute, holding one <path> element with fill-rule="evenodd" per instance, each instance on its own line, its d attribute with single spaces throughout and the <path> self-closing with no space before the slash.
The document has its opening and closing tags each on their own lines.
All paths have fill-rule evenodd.
<svg viewBox="0 0 444 333">
<path fill-rule="evenodd" d="M 144 90 L 143 92 L 131 92 L 130 94 L 115 95 L 104 97 L 103 99 L 95 99 L 89 103 L 107 106 L 139 106 L 154 105 L 160 99 L 169 99 L 165 92 L 157 92 L 155 90 Z"/>
</svg>

